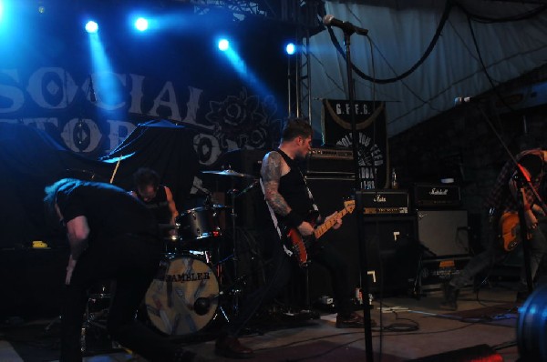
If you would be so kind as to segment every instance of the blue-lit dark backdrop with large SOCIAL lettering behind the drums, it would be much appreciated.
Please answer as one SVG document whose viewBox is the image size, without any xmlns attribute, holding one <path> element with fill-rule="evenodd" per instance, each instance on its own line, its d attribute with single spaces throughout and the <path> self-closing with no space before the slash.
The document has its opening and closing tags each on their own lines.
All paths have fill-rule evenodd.
<svg viewBox="0 0 547 362">
<path fill-rule="evenodd" d="M 101 2 L 90 36 L 77 5 L 60 3 L 2 23 L 0 184 L 9 202 L 0 247 L 46 237 L 43 187 L 60 176 L 108 181 L 121 158 L 115 184 L 130 188 L 139 166 L 157 168 L 181 208 L 188 179 L 200 186 L 200 171 L 220 169 L 228 151 L 278 142 L 290 29 L 168 12 L 180 18 L 136 34 L 121 21 L 127 9 Z M 232 53 L 219 51 L 219 35 L 231 37 Z"/>
</svg>

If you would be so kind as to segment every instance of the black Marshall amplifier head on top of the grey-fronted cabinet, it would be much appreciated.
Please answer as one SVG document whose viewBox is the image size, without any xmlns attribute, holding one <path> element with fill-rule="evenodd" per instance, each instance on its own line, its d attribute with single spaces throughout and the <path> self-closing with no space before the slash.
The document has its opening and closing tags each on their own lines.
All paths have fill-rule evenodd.
<svg viewBox="0 0 547 362">
<path fill-rule="evenodd" d="M 459 186 L 447 184 L 416 184 L 414 186 L 416 208 L 449 208 L 461 206 Z"/>
</svg>

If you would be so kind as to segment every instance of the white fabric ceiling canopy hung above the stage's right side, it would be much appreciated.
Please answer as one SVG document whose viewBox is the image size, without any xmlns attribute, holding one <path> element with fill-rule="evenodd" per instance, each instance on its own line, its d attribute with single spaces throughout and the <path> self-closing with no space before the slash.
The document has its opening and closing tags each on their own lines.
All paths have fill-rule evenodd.
<svg viewBox="0 0 547 362">
<path fill-rule="evenodd" d="M 458 3 L 473 15 L 494 18 L 521 15 L 541 6 L 477 0 Z M 374 42 L 376 73 L 373 74 L 371 49 L 365 36 L 351 36 L 351 58 L 363 73 L 376 79 L 397 77 L 418 62 L 436 33 L 444 9 L 445 2 L 435 0 L 325 2 L 326 14 L 369 30 Z M 471 25 L 480 56 L 495 85 L 547 63 L 547 11 L 521 21 L 497 24 L 472 21 Z M 333 30 L 345 50 L 342 30 Z M 311 118 L 314 127 L 320 128 L 319 99 L 347 98 L 346 63 L 327 30 L 310 38 L 308 51 Z M 354 71 L 354 81 L 357 100 L 387 101 L 388 136 L 449 110 L 456 96 L 477 96 L 491 89 L 480 65 L 467 15 L 459 6 L 451 7 L 439 42 L 412 74 L 393 83 L 373 86 Z"/>
</svg>

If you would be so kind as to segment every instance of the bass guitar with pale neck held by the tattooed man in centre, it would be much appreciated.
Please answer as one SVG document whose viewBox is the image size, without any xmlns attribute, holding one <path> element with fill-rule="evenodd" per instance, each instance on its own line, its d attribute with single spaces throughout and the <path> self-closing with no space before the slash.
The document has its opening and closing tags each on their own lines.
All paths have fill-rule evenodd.
<svg viewBox="0 0 547 362">
<path fill-rule="evenodd" d="M 348 200 L 344 202 L 344 209 L 338 211 L 334 216 L 330 217 L 325 221 L 324 224 L 315 227 L 314 233 L 310 236 L 302 236 L 298 229 L 295 227 L 288 228 L 286 231 L 286 240 L 290 250 L 294 253 L 294 257 L 298 262 L 298 266 L 305 267 L 308 265 L 308 249 L 312 243 L 315 242 L 319 237 L 323 236 L 331 227 L 335 226 L 336 219 L 338 217 L 346 216 L 351 214 L 356 207 L 356 202 L 354 200 Z M 312 226 L 315 226 L 314 220 L 306 220 Z"/>
</svg>

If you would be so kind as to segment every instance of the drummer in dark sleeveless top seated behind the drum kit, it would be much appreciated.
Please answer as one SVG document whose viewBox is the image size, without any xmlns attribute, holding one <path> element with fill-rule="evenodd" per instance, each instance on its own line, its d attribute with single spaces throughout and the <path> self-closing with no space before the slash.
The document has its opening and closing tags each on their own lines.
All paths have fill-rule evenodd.
<svg viewBox="0 0 547 362">
<path fill-rule="evenodd" d="M 152 211 L 160 228 L 162 226 L 167 230 L 163 236 L 176 236 L 175 218 L 179 216 L 179 212 L 170 188 L 160 185 L 160 176 L 148 167 L 140 167 L 133 174 L 133 181 L 135 189 L 130 192 L 131 195 L 137 197 Z"/>
</svg>

